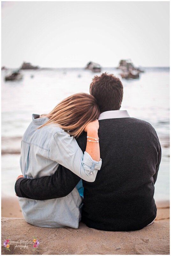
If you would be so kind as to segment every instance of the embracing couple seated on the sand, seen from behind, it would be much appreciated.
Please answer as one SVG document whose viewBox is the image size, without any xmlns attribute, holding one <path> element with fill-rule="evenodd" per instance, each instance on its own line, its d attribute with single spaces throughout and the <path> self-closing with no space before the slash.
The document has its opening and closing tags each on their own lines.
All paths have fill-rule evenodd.
<svg viewBox="0 0 171 256">
<path fill-rule="evenodd" d="M 142 229 L 156 218 L 154 184 L 161 160 L 151 124 L 119 110 L 118 77 L 95 76 L 49 114 L 33 115 L 15 184 L 25 220 L 35 226 L 107 231 Z M 101 157 L 101 158 L 100 158 Z"/>
</svg>

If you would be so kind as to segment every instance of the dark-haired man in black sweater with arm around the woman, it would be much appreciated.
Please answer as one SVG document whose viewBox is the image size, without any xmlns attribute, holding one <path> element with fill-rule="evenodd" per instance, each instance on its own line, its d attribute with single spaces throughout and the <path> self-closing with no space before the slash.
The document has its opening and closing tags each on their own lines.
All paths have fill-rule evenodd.
<svg viewBox="0 0 171 256">
<path fill-rule="evenodd" d="M 119 110 L 123 85 L 118 77 L 95 76 L 90 84 L 100 106 L 99 138 L 102 166 L 94 182 L 83 180 L 82 221 L 107 231 L 142 229 L 156 218 L 153 198 L 161 160 L 158 136 L 151 124 Z M 86 133 L 78 139 L 85 151 Z M 19 178 L 16 194 L 36 200 L 67 196 L 80 178 L 60 166 L 52 176 Z"/>
</svg>

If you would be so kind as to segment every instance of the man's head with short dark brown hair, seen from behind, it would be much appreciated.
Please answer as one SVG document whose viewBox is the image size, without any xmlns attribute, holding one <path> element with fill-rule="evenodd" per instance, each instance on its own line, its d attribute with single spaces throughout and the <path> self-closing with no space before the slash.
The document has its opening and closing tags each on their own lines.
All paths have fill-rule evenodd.
<svg viewBox="0 0 171 256">
<path fill-rule="evenodd" d="M 96 98 L 100 112 L 119 110 L 123 99 L 123 85 L 118 77 L 105 72 L 93 77 L 90 94 Z"/>
</svg>

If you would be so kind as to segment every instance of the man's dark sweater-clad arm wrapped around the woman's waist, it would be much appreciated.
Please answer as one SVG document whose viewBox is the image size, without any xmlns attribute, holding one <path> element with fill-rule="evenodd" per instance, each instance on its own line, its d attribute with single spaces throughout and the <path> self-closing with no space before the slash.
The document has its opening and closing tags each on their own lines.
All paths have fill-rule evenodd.
<svg viewBox="0 0 171 256">
<path fill-rule="evenodd" d="M 15 183 L 15 192 L 19 197 L 35 200 L 47 200 L 67 196 L 78 184 L 80 178 L 69 169 L 59 165 L 51 176 L 38 179 L 20 178 Z"/>
</svg>

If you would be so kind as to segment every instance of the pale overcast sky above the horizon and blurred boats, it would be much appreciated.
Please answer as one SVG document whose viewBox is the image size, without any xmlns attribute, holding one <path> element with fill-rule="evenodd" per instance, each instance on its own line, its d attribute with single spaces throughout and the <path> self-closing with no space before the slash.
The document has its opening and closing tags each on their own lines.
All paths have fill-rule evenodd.
<svg viewBox="0 0 171 256">
<path fill-rule="evenodd" d="M 169 2 L 2 2 L 2 66 L 169 66 Z"/>
</svg>

